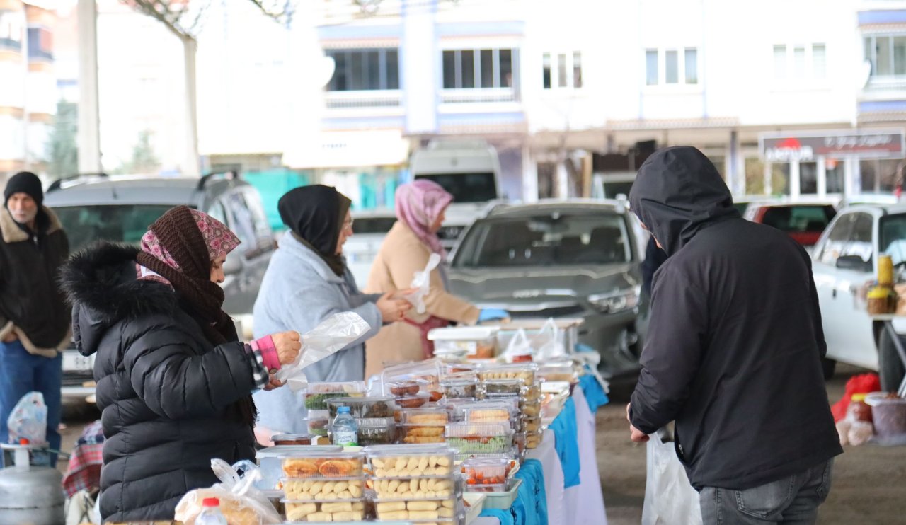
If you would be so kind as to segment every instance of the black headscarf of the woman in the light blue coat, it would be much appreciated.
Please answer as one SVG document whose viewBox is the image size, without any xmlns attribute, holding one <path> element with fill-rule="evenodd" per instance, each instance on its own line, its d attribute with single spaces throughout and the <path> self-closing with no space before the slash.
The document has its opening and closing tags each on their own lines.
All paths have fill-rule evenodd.
<svg viewBox="0 0 906 525">
<path fill-rule="evenodd" d="M 342 276 L 346 262 L 337 255 L 337 240 L 352 201 L 333 186 L 302 186 L 280 197 L 280 218 L 294 237 L 321 256 Z"/>
</svg>

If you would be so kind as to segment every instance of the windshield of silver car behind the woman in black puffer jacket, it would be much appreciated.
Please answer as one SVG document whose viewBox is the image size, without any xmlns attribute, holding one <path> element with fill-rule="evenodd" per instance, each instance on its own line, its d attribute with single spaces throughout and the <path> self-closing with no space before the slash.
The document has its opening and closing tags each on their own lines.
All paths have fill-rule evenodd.
<svg viewBox="0 0 906 525">
<path fill-rule="evenodd" d="M 53 211 L 69 237 L 74 252 L 93 241 L 138 244 L 148 226 L 172 205 L 60 206 Z"/>
</svg>

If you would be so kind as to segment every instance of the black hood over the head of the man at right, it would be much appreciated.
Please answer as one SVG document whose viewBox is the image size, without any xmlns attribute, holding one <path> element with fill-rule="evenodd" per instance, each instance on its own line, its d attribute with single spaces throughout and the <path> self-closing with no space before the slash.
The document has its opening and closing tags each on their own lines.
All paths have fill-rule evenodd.
<svg viewBox="0 0 906 525">
<path fill-rule="evenodd" d="M 739 216 L 717 168 L 689 146 L 660 149 L 648 157 L 629 200 L 668 255 L 679 252 L 708 224 Z"/>
</svg>

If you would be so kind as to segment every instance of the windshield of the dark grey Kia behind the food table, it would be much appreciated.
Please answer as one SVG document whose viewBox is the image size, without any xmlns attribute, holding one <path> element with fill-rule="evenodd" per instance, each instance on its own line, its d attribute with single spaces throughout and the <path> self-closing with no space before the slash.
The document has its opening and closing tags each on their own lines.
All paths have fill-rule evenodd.
<svg viewBox="0 0 906 525">
<path fill-rule="evenodd" d="M 453 266 L 500 268 L 612 264 L 632 258 L 626 221 L 614 213 L 492 218 L 471 228 Z"/>
</svg>

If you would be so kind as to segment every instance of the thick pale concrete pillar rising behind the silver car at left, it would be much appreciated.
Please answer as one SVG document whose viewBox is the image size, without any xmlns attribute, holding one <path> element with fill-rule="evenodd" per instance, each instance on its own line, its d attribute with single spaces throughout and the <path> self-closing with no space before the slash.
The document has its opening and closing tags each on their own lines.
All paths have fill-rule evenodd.
<svg viewBox="0 0 906 525">
<path fill-rule="evenodd" d="M 101 171 L 101 118 L 98 97 L 98 8 L 79 0 L 79 171 Z"/>
</svg>

